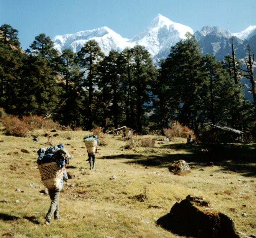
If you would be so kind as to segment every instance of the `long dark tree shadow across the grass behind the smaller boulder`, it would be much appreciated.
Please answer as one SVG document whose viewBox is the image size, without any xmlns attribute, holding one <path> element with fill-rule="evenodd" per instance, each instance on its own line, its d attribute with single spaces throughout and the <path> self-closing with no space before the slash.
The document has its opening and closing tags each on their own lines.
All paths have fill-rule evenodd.
<svg viewBox="0 0 256 238">
<path fill-rule="evenodd" d="M 231 145 L 222 150 L 213 150 L 213 154 L 200 152 L 198 145 L 186 145 L 181 143 L 163 144 L 162 149 L 175 149 L 182 153 L 147 153 L 143 154 L 119 154 L 112 156 L 103 156 L 101 159 L 130 159 L 124 163 L 137 163 L 143 166 L 152 166 L 156 168 L 168 168 L 174 161 L 185 160 L 191 168 L 202 168 L 209 166 L 209 163 L 222 167 L 222 171 L 233 171 L 243 174 L 243 176 L 256 176 L 256 145 Z M 193 167 L 192 167 L 193 166 Z"/>
</svg>

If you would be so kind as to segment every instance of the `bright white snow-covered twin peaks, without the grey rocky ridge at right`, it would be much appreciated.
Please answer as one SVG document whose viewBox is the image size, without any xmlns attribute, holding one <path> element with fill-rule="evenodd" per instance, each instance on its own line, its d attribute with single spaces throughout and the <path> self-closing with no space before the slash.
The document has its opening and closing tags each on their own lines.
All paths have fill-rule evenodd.
<svg viewBox="0 0 256 238">
<path fill-rule="evenodd" d="M 123 38 L 104 26 L 74 34 L 55 36 L 53 42 L 55 49 L 60 52 L 65 48 L 78 52 L 87 41 L 95 40 L 106 55 L 110 50 L 121 52 L 126 47 L 131 48 L 139 44 L 144 46 L 153 58 L 157 56 L 161 58 L 166 51 L 169 52 L 171 46 L 185 39 L 187 32 L 194 34 L 190 27 L 175 23 L 159 14 L 144 31 L 132 39 Z"/>
</svg>

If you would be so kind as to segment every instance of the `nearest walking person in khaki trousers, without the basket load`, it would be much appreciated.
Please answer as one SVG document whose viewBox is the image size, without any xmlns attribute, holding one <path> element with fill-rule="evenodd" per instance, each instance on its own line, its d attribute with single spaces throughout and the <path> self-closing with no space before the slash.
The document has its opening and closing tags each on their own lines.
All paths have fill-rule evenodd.
<svg viewBox="0 0 256 238">
<path fill-rule="evenodd" d="M 71 156 L 67 152 L 66 148 L 64 148 L 64 146 L 62 144 L 57 145 L 57 147 L 59 148 L 58 152 L 61 154 L 61 156 L 66 157 L 66 161 L 68 161 L 71 158 Z M 67 181 L 67 179 L 68 179 L 66 167 L 67 167 L 67 162 L 65 163 L 65 170 L 64 170 L 63 178 L 61 179 L 61 184 L 60 184 L 59 188 L 58 189 L 48 189 L 49 196 L 51 198 L 51 206 L 50 206 L 48 213 L 46 214 L 46 217 L 45 217 L 44 224 L 46 224 L 46 225 L 50 224 L 51 218 L 53 215 L 54 215 L 54 220 L 59 219 L 59 195 L 62 190 L 64 181 Z"/>
</svg>

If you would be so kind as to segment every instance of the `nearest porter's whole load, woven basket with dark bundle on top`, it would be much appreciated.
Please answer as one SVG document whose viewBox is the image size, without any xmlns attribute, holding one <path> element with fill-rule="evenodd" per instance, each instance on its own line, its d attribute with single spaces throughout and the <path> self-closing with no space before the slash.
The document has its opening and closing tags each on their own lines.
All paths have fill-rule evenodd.
<svg viewBox="0 0 256 238">
<path fill-rule="evenodd" d="M 50 148 L 40 148 L 38 150 L 38 170 L 44 186 L 49 189 L 61 189 L 65 165 L 68 164 L 69 156 L 63 147 L 53 146 Z"/>
</svg>

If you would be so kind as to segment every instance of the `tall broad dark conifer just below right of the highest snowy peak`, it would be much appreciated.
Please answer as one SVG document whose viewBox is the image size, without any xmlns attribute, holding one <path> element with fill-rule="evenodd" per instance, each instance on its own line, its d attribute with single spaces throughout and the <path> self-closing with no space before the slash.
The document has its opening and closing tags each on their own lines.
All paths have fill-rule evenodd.
<svg viewBox="0 0 256 238">
<path fill-rule="evenodd" d="M 202 123 L 199 119 L 203 100 L 207 97 L 208 75 L 199 43 L 190 33 L 186 37 L 171 47 L 163 72 L 169 80 L 166 84 L 170 93 L 169 108 L 178 109 L 177 119 L 197 134 Z"/>
</svg>

